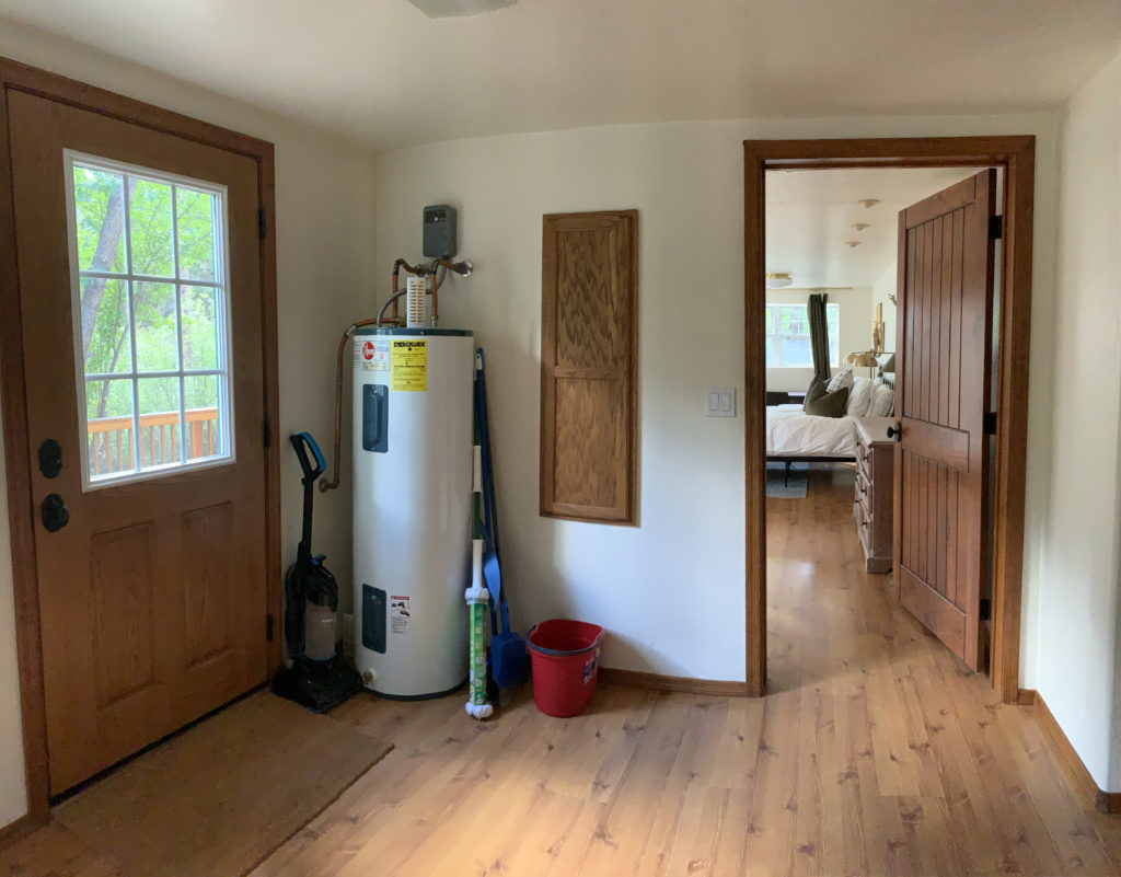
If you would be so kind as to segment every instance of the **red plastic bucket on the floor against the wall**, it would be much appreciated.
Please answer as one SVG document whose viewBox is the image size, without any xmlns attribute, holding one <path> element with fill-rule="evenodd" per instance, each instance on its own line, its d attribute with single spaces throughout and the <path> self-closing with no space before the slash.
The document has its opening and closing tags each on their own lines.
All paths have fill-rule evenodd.
<svg viewBox="0 0 1121 877">
<path fill-rule="evenodd" d="M 554 618 L 527 636 L 534 671 L 534 702 L 546 716 L 576 716 L 595 694 L 603 628 Z"/>
</svg>

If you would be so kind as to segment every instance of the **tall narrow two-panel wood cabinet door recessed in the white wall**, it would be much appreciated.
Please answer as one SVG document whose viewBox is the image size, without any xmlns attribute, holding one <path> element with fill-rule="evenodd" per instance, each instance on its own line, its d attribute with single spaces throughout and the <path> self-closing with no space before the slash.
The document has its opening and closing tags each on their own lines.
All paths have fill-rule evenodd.
<svg viewBox="0 0 1121 877">
<path fill-rule="evenodd" d="M 540 514 L 636 520 L 638 211 L 545 216 Z"/>
</svg>

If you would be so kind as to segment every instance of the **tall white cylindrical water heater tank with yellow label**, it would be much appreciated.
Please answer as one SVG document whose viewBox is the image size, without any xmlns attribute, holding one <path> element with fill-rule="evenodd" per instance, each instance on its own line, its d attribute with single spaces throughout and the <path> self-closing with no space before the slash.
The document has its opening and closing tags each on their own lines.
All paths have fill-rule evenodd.
<svg viewBox="0 0 1121 877">
<path fill-rule="evenodd" d="M 354 332 L 354 664 L 388 698 L 467 677 L 474 339 Z"/>
</svg>

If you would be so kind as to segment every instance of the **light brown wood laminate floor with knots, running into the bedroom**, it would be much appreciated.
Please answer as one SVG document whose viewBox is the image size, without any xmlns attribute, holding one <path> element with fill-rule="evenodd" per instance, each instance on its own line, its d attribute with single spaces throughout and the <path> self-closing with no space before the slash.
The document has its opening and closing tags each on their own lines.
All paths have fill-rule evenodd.
<svg viewBox="0 0 1121 877">
<path fill-rule="evenodd" d="M 863 572 L 851 498 L 839 469 L 768 500 L 766 699 L 605 685 L 575 719 L 522 696 L 478 724 L 458 695 L 355 698 L 335 718 L 397 748 L 253 877 L 1121 874 L 1121 821 L 1034 709 Z M 117 871 L 50 824 L 0 852 L 4 874 Z"/>
</svg>

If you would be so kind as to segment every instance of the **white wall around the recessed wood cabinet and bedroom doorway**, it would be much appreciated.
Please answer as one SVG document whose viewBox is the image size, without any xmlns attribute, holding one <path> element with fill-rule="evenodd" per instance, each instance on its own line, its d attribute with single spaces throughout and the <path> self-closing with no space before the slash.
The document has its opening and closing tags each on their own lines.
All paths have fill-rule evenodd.
<svg viewBox="0 0 1121 877">
<path fill-rule="evenodd" d="M 707 419 L 703 405 L 707 385 L 735 385 L 742 399 L 741 142 L 980 133 L 1039 138 L 1026 535 L 1036 546 L 1050 471 L 1051 116 L 640 124 L 460 140 L 380 158 L 381 270 L 418 255 L 424 204 L 461 207 L 461 251 L 475 274 L 442 294 L 442 313 L 446 325 L 474 327 L 488 351 L 503 560 L 522 629 L 572 615 L 609 629 L 609 666 L 743 678 L 743 422 Z M 639 526 L 541 518 L 541 214 L 622 207 L 640 211 Z M 1026 686 L 1037 634 L 1038 565 L 1029 554 Z"/>
</svg>

